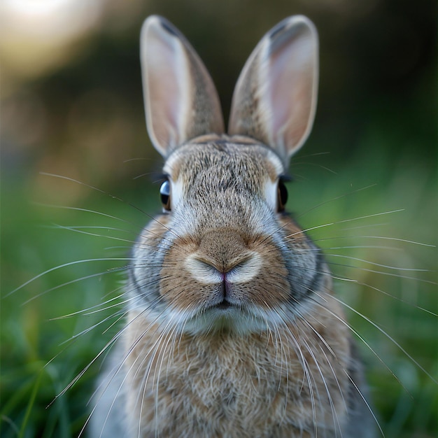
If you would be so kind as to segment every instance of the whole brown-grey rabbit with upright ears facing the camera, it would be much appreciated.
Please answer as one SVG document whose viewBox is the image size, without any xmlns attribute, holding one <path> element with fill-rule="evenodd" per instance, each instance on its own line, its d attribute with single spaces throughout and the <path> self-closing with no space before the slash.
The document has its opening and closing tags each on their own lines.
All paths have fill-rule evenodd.
<svg viewBox="0 0 438 438">
<path fill-rule="evenodd" d="M 314 24 L 288 17 L 262 38 L 227 131 L 204 64 L 163 17 L 143 23 L 141 70 L 163 210 L 132 248 L 90 435 L 373 437 L 330 270 L 285 211 L 316 111 Z"/>
</svg>

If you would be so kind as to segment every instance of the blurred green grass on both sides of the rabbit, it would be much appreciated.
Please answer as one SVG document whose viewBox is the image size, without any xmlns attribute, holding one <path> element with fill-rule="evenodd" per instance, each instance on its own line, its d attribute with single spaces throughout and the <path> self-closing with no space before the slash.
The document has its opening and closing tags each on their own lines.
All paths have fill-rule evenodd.
<svg viewBox="0 0 438 438">
<path fill-rule="evenodd" d="M 311 236 L 325 248 L 336 276 L 356 281 L 337 280 L 339 297 L 381 327 L 379 330 L 346 308 L 351 324 L 376 353 L 359 341 L 385 436 L 436 437 L 438 386 L 432 378 L 437 379 L 438 374 L 437 251 L 407 242 L 437 244 L 436 174 L 423 171 L 418 160 L 413 166 L 408 157 L 390 162 L 383 155 L 364 154 L 336 169 L 330 166 L 337 174 L 323 169 L 325 161 L 324 156 L 306 158 L 303 154 L 297 158 L 292 167 L 296 181 L 290 185 L 288 209 L 304 228 L 326 225 L 313 229 Z M 117 327 L 111 327 L 115 321 L 110 319 L 80 334 L 111 315 L 109 311 L 60 317 L 117 296 L 123 275 L 115 268 L 125 262 L 84 262 L 38 275 L 76 260 L 125 257 L 129 243 L 108 237 L 134 239 L 147 221 L 146 215 L 128 204 L 69 181 L 44 178 L 48 178 L 45 185 L 53 188 L 50 192 L 36 190 L 30 176 L 3 178 L 2 438 L 78 435 L 87 418 L 87 402 L 99 363 L 62 392 Z M 129 190 L 108 190 L 149 213 L 160 208 L 157 187 L 145 190 L 140 180 Z M 128 222 L 34 202 L 78 206 Z M 387 213 L 398 209 L 404 211 Z M 106 227 L 82 229 L 106 237 L 53 224 Z M 8 296 L 34 276 L 38 278 Z M 78 278 L 85 279 L 76 281 Z"/>
</svg>

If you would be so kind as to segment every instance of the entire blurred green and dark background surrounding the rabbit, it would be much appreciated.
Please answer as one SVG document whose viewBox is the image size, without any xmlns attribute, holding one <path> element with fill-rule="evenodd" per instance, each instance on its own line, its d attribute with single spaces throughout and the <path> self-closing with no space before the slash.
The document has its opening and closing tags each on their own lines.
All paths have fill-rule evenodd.
<svg viewBox="0 0 438 438">
<path fill-rule="evenodd" d="M 358 340 L 385 436 L 436 437 L 437 10 L 428 0 L 0 3 L 1 437 L 76 437 L 90 410 L 100 360 L 53 400 L 117 331 L 120 306 L 105 307 L 121 301 L 120 268 L 143 211 L 160 210 L 139 70 L 151 13 L 192 42 L 226 118 L 262 35 L 288 15 L 316 23 L 318 111 L 292 160 L 288 209 L 305 228 L 326 225 L 309 234 L 367 343 Z"/>
</svg>

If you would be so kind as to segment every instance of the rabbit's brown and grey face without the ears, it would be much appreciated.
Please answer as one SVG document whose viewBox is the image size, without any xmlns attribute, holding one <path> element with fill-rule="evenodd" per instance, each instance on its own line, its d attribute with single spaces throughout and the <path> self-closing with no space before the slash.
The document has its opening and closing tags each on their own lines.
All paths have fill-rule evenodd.
<svg viewBox="0 0 438 438">
<path fill-rule="evenodd" d="M 178 148 L 164 172 L 171 211 L 158 220 L 160 239 L 154 223 L 134 249 L 136 295 L 185 332 L 260 331 L 293 318 L 322 272 L 316 247 L 278 212 L 278 156 L 213 138 Z M 160 269 L 153 294 L 149 264 Z"/>
</svg>

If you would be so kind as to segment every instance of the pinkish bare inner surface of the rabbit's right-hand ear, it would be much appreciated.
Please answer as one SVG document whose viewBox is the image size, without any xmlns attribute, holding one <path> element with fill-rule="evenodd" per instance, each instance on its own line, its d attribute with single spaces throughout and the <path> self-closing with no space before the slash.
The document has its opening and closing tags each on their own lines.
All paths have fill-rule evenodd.
<svg viewBox="0 0 438 438">
<path fill-rule="evenodd" d="M 271 135 L 277 144 L 297 146 L 311 123 L 314 48 L 310 38 L 283 44 L 269 61 Z"/>
</svg>

